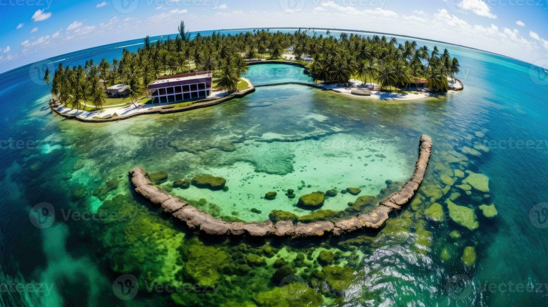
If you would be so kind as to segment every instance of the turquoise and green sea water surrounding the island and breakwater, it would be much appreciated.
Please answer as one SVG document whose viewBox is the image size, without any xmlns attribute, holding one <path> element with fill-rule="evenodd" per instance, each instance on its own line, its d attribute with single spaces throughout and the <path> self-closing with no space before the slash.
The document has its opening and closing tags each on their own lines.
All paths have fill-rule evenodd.
<svg viewBox="0 0 548 307">
<path fill-rule="evenodd" d="M 139 45 L 130 45 L 136 43 L 140 40 L 51 60 L 64 65 L 111 60 L 121 55 L 122 46 L 135 50 Z M 459 58 L 463 92 L 388 101 L 293 85 L 264 87 L 208 109 L 105 124 L 52 115 L 47 86 L 30 78 L 33 66 L 3 73 L 0 280 L 38 283 L 50 291 L 2 292 L 0 304 L 230 306 L 266 304 L 269 297 L 297 305 L 302 294 L 276 292 L 280 283 L 272 277 L 273 266 L 283 258 L 312 293 L 322 295 L 322 305 L 548 305 L 543 261 L 548 230 L 542 228 L 542 206 L 535 207 L 548 202 L 547 86 L 532 81 L 524 62 L 437 46 Z M 256 84 L 310 81 L 302 69 L 284 65 L 251 66 L 247 77 Z M 435 149 L 416 200 L 379 233 L 337 240 L 239 243 L 195 237 L 142 202 L 127 177 L 135 166 L 165 170 L 164 189 L 218 217 L 260 221 L 273 209 L 305 215 L 311 211 L 296 207 L 296 198 L 284 190 L 301 195 L 359 187 L 360 195 L 377 196 L 386 180 L 400 185 L 410 177 L 421 134 L 433 138 Z M 486 175 L 489 191 L 472 189 L 467 195 L 457 187 L 462 179 L 455 170 Z M 226 178 L 229 189 L 171 187 L 174 180 L 203 173 Z M 104 200 L 93 196 L 111 179 L 119 181 L 115 190 Z M 264 200 L 268 191 L 277 191 L 277 198 Z M 322 209 L 344 210 L 356 198 L 339 194 Z M 425 217 L 434 202 L 447 215 L 448 199 L 472 209 L 478 228 L 470 231 L 449 218 Z M 33 226 L 29 211 L 43 202 L 55 208 L 55 223 L 41 229 Z M 478 207 L 491 203 L 498 215 L 488 219 Z M 75 212 L 119 215 L 84 220 Z M 450 236 L 454 230 L 459 238 Z M 461 260 L 465 247 L 477 254 L 471 268 Z M 336 252 L 334 265 L 345 268 L 343 276 L 315 273 L 328 266 L 317 261 L 326 250 Z M 123 274 L 138 280 L 138 294 L 131 300 L 113 293 L 113 282 Z M 453 276 L 470 282 L 455 293 Z M 149 293 L 150 283 L 198 283 L 216 292 Z"/>
</svg>

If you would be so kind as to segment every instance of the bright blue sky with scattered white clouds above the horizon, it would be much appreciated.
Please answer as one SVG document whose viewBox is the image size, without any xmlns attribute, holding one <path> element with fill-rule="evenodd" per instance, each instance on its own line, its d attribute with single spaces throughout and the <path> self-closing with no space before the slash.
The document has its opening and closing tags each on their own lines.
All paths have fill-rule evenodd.
<svg viewBox="0 0 548 307">
<path fill-rule="evenodd" d="M 547 0 L 0 0 L 0 72 L 146 35 L 241 27 L 328 27 L 548 59 Z"/>
</svg>

